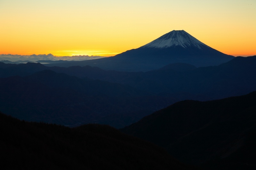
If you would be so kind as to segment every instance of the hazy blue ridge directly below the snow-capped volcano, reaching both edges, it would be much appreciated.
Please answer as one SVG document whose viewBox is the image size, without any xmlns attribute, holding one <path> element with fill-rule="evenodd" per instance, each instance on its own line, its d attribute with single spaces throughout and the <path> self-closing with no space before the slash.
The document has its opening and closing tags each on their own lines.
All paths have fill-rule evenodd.
<svg viewBox="0 0 256 170">
<path fill-rule="evenodd" d="M 148 72 L 105 71 L 90 66 L 45 67 L 40 63 L 27 63 L 13 64 L 12 67 L 3 65 L 0 77 L 24 76 L 48 69 L 80 78 L 88 77 L 130 85 L 143 91 L 162 93 L 181 100 L 205 101 L 244 95 L 256 90 L 255 65 L 256 56 L 236 57 L 219 66 L 199 68 L 185 63 L 174 63 Z M 180 98 L 181 95 L 184 98 Z"/>
</svg>

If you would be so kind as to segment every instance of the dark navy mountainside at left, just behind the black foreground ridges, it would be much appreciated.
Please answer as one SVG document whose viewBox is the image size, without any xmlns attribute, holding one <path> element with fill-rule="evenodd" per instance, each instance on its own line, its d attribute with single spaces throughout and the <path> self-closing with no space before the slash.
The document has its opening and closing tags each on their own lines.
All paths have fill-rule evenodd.
<svg viewBox="0 0 256 170">
<path fill-rule="evenodd" d="M 51 70 L 0 78 L 0 108 L 28 121 L 68 126 L 101 123 L 124 127 L 174 102 L 129 85 L 77 78 Z"/>
</svg>

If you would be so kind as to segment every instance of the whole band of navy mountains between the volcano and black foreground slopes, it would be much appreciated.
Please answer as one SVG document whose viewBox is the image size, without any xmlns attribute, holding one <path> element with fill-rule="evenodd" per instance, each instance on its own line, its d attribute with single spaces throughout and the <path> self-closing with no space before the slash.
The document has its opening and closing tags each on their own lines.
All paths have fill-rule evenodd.
<svg viewBox="0 0 256 170">
<path fill-rule="evenodd" d="M 173 63 L 148 72 L 120 72 L 0 63 L 0 109 L 30 121 L 121 128 L 180 100 L 206 101 L 255 91 L 255 64 L 252 56 L 219 66 Z"/>
</svg>

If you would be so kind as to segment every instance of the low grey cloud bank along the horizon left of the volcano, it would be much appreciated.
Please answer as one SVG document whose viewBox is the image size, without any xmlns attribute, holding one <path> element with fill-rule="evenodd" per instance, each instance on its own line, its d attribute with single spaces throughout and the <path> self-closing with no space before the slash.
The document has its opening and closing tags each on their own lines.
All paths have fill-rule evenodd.
<svg viewBox="0 0 256 170">
<path fill-rule="evenodd" d="M 12 55 L 12 54 L 0 54 L 0 61 L 1 60 L 9 60 L 12 62 L 15 61 L 32 61 L 32 62 L 36 62 L 38 60 L 52 60 L 52 61 L 56 61 L 56 60 L 68 60 L 68 61 L 82 61 L 82 60 L 92 60 L 92 59 L 98 59 L 98 58 L 103 58 L 103 56 L 89 56 L 89 55 L 74 55 L 74 56 L 61 56 L 61 57 L 57 57 L 54 56 L 52 54 L 33 54 L 33 55 Z"/>
</svg>

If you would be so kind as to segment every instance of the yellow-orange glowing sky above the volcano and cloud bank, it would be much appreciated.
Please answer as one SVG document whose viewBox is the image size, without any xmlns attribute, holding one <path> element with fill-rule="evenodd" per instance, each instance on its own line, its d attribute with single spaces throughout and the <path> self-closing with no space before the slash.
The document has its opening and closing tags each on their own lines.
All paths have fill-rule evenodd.
<svg viewBox="0 0 256 170">
<path fill-rule="evenodd" d="M 172 30 L 256 55 L 256 0 L 0 0 L 0 54 L 114 56 Z"/>
</svg>

